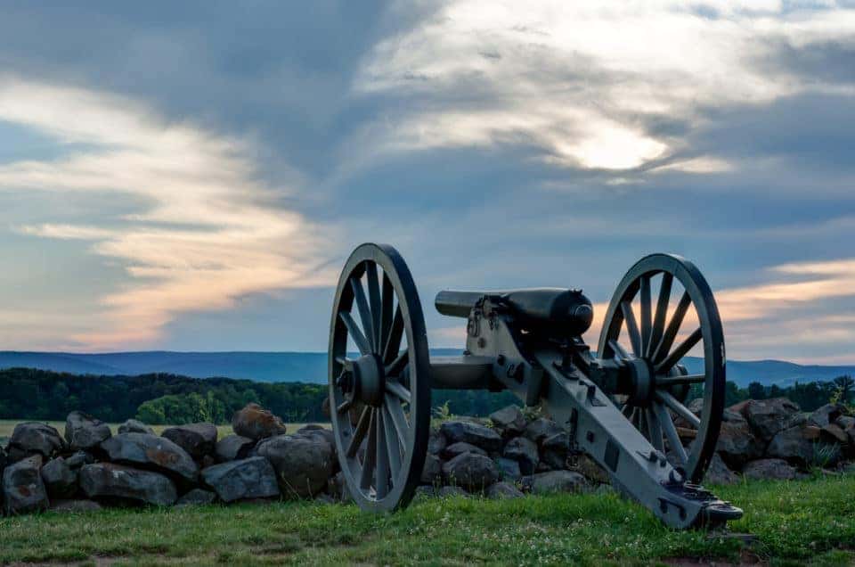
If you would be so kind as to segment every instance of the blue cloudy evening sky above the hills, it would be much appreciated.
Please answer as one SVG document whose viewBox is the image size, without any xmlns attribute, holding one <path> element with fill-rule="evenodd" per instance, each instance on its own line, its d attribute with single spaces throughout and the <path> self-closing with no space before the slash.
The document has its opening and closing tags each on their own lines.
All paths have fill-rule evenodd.
<svg viewBox="0 0 855 567">
<path fill-rule="evenodd" d="M 0 349 L 325 350 L 369 241 L 431 347 L 662 251 L 729 357 L 855 364 L 855 3 L 0 3 Z"/>
</svg>

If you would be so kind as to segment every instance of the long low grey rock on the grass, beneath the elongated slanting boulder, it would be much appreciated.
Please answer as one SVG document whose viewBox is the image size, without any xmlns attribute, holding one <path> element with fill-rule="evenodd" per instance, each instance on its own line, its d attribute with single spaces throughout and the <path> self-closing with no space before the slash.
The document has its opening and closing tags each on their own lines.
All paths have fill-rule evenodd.
<svg viewBox="0 0 855 567">
<path fill-rule="evenodd" d="M 80 489 L 89 498 L 121 498 L 161 506 L 175 504 L 178 497 L 175 484 L 166 476 L 112 463 L 85 464 L 80 469 Z"/>
</svg>

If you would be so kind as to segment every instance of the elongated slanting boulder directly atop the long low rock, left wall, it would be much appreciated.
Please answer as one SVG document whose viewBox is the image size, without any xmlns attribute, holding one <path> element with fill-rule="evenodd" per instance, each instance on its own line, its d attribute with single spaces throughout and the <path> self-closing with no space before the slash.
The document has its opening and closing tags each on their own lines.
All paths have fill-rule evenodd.
<svg viewBox="0 0 855 567">
<path fill-rule="evenodd" d="M 183 448 L 165 437 L 146 433 L 121 433 L 101 444 L 110 461 L 166 473 L 184 482 L 195 482 L 199 467 Z"/>
</svg>

